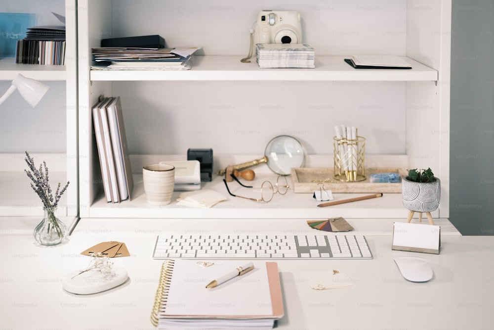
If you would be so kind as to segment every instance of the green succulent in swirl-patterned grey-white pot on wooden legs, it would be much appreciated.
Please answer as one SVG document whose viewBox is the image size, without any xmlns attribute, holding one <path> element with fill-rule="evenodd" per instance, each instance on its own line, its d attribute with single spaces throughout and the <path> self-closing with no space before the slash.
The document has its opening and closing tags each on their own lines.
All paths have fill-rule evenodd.
<svg viewBox="0 0 494 330">
<path fill-rule="evenodd" d="M 441 200 L 441 181 L 434 176 L 432 170 L 418 171 L 412 169 L 408 171 L 408 176 L 402 181 L 403 206 L 410 210 L 407 222 L 412 220 L 415 212 L 420 212 L 419 221 L 422 221 L 422 212 L 429 219 L 429 223 L 434 225 L 431 212 L 437 210 Z"/>
</svg>

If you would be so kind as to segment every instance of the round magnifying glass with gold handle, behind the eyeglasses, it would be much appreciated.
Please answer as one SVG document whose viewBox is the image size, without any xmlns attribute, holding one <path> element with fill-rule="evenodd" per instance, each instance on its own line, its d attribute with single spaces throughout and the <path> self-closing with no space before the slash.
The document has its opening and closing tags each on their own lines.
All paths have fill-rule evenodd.
<svg viewBox="0 0 494 330">
<path fill-rule="evenodd" d="M 264 157 L 246 163 L 232 166 L 232 170 L 243 170 L 247 167 L 266 163 L 276 174 L 289 175 L 292 168 L 302 167 L 305 162 L 305 151 L 297 139 L 280 135 L 273 138 L 266 145 Z M 226 170 L 221 170 L 218 175 L 224 175 Z"/>
</svg>

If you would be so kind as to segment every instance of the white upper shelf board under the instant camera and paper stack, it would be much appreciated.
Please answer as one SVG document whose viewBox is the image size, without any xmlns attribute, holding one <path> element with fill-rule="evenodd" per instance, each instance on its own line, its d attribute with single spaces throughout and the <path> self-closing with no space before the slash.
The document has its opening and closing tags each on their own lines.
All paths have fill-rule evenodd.
<svg viewBox="0 0 494 330">
<path fill-rule="evenodd" d="M 91 70 L 92 81 L 437 81 L 438 72 L 409 57 L 412 69 L 354 69 L 344 58 L 316 56 L 314 69 L 260 69 L 242 56 L 195 56 L 191 70 Z"/>
</svg>

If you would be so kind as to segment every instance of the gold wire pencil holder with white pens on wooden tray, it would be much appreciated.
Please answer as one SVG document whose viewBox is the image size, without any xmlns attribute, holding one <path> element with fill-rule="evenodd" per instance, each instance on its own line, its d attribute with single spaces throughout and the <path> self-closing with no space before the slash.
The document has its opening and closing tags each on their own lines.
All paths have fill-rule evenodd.
<svg viewBox="0 0 494 330">
<path fill-rule="evenodd" d="M 344 182 L 366 180 L 365 148 L 366 139 L 357 136 L 355 140 L 334 140 L 334 179 Z"/>
</svg>

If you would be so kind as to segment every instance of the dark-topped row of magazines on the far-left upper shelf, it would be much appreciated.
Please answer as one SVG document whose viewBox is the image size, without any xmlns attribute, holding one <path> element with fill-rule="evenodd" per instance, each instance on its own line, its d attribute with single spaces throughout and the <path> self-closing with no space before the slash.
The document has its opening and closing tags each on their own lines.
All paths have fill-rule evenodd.
<svg viewBox="0 0 494 330">
<path fill-rule="evenodd" d="M 29 28 L 26 38 L 17 41 L 16 63 L 65 64 L 65 26 Z"/>
</svg>

